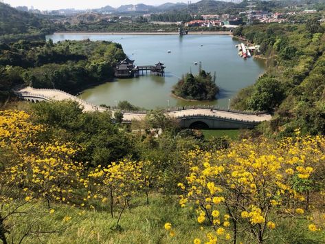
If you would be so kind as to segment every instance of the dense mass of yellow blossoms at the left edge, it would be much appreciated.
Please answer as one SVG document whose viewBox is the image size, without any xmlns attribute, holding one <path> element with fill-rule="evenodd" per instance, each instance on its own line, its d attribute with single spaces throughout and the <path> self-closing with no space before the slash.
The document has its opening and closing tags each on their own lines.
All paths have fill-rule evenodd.
<svg viewBox="0 0 325 244">
<path fill-rule="evenodd" d="M 81 148 L 57 140 L 42 142 L 38 135 L 44 132 L 47 128 L 34 124 L 23 111 L 0 111 L 0 148 L 9 148 L 16 157 L 16 164 L 5 168 L 1 177 L 16 188 L 24 186 L 25 201 L 43 197 L 48 204 L 68 203 L 84 170 L 74 161 Z"/>
</svg>

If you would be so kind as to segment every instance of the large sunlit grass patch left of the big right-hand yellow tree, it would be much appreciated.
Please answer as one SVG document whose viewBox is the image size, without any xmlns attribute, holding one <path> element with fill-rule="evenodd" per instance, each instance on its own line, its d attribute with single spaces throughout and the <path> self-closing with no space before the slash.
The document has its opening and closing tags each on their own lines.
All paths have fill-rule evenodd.
<svg viewBox="0 0 325 244">
<path fill-rule="evenodd" d="M 176 197 L 153 195 L 149 206 L 146 199 L 137 199 L 137 206 L 127 209 L 122 215 L 122 230 L 115 230 L 118 212 L 112 219 L 109 211 L 89 208 L 84 211 L 72 206 L 55 206 L 54 214 L 49 214 L 45 204 L 38 203 L 35 209 L 43 214 L 40 221 L 43 230 L 61 230 L 64 227 L 58 234 L 42 234 L 42 243 L 192 243 L 197 237 L 204 238 L 195 213 L 180 208 Z M 30 223 L 42 214 L 36 214 L 37 217 L 22 215 L 19 222 Z M 64 223 L 66 216 L 71 220 Z M 166 222 L 175 226 L 174 237 L 164 229 Z M 19 230 L 14 232 L 15 239 L 22 235 L 28 225 L 18 226 Z M 11 239 L 11 236 L 8 237 Z M 27 236 L 24 243 L 35 243 L 35 238 L 34 235 Z"/>
</svg>

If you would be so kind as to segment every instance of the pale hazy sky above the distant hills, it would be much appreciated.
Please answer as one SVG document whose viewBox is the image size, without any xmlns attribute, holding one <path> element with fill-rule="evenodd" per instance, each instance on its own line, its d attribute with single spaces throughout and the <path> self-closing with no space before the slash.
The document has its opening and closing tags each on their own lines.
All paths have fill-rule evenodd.
<svg viewBox="0 0 325 244">
<path fill-rule="evenodd" d="M 1 0 L 0 0 L 1 1 Z M 192 3 L 199 0 L 192 0 Z M 3 0 L 5 3 L 9 3 L 12 7 L 16 6 L 34 6 L 38 10 L 58 10 L 60 8 L 76 8 L 76 9 L 89 9 L 89 8 L 101 8 L 106 5 L 111 5 L 112 7 L 119 7 L 125 4 L 137 4 L 144 3 L 148 5 L 159 5 L 166 2 L 185 2 L 187 0 Z"/>
</svg>

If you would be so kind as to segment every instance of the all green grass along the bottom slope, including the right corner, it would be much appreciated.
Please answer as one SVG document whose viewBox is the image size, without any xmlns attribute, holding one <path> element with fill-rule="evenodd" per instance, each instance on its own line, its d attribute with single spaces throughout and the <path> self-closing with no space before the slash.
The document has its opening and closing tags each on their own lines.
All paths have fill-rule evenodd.
<svg viewBox="0 0 325 244">
<path fill-rule="evenodd" d="M 121 228 L 116 229 L 118 212 L 112 219 L 107 210 L 76 208 L 62 205 L 54 206 L 54 214 L 49 214 L 44 202 L 35 203 L 31 214 L 13 217 L 10 222 L 20 223 L 8 240 L 14 237 L 18 243 L 24 231 L 36 220 L 36 227 L 41 230 L 60 230 L 57 234 L 40 234 L 27 236 L 23 243 L 193 243 L 195 238 L 207 241 L 205 234 L 212 229 L 200 230 L 194 210 L 180 208 L 177 197 L 150 195 L 150 205 L 145 198 L 135 199 L 120 221 Z M 99 207 L 98 207 L 99 208 Z M 71 217 L 64 222 L 65 217 Z M 38 221 L 37 221 L 38 220 Z M 164 230 L 166 222 L 172 223 L 176 235 L 171 237 Z M 249 237 L 250 236 L 250 237 Z M 268 234 L 265 243 L 320 243 L 325 239 L 325 232 L 309 232 L 308 221 L 302 219 L 279 219 L 276 230 Z M 250 232 L 245 232 L 240 240 L 251 242 Z M 238 241 L 238 243 L 239 243 Z M 227 243 L 220 240 L 218 243 Z M 229 242 L 228 242 L 229 243 Z"/>
</svg>

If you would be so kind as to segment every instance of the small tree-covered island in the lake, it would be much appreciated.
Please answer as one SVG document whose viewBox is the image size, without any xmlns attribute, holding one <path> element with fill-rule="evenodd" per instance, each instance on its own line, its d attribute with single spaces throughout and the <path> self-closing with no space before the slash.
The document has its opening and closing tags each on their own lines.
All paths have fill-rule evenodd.
<svg viewBox="0 0 325 244">
<path fill-rule="evenodd" d="M 185 100 L 215 100 L 219 88 L 216 86 L 215 77 L 201 70 L 197 76 L 186 74 L 172 89 L 172 94 Z"/>
</svg>

